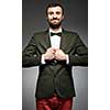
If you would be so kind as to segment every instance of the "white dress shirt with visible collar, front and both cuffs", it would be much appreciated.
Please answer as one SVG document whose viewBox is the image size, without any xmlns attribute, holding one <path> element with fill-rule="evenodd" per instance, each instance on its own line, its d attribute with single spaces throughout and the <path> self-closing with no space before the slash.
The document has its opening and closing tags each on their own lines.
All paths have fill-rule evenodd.
<svg viewBox="0 0 110 110">
<path fill-rule="evenodd" d="M 58 35 L 53 35 L 51 36 L 51 32 L 55 33 L 52 29 L 50 29 L 50 40 L 51 40 L 51 47 L 53 48 L 59 48 L 61 47 L 61 36 Z M 59 29 L 56 33 L 62 33 L 62 29 Z M 44 61 L 44 54 L 42 55 L 42 59 L 41 59 L 42 64 L 45 64 Z M 69 63 L 69 58 L 68 55 L 66 54 L 66 64 Z"/>
</svg>

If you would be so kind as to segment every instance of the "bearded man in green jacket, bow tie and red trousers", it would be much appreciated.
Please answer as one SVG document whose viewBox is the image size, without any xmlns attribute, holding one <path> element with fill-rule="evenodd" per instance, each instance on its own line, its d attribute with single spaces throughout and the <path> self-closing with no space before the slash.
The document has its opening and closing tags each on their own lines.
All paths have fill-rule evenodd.
<svg viewBox="0 0 110 110">
<path fill-rule="evenodd" d="M 62 28 L 64 9 L 46 8 L 47 31 L 33 35 L 23 51 L 23 67 L 40 66 L 36 110 L 72 110 L 75 97 L 73 66 L 87 66 L 87 47 L 79 35 Z"/>
</svg>

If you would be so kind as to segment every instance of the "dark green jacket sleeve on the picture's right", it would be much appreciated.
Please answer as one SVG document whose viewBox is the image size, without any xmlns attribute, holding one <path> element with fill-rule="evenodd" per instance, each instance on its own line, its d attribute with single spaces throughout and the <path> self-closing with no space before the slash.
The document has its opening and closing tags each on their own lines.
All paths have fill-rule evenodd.
<svg viewBox="0 0 110 110">
<path fill-rule="evenodd" d="M 69 54 L 70 66 L 88 66 L 88 48 L 77 35 L 75 41 L 75 51 Z"/>
</svg>

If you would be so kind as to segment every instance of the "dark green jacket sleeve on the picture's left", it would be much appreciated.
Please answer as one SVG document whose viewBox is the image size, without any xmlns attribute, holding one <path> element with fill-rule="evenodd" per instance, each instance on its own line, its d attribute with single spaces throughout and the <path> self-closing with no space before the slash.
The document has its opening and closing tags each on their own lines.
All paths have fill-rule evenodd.
<svg viewBox="0 0 110 110">
<path fill-rule="evenodd" d="M 22 66 L 31 67 L 41 65 L 41 55 L 38 53 L 34 36 L 22 52 Z"/>
</svg>

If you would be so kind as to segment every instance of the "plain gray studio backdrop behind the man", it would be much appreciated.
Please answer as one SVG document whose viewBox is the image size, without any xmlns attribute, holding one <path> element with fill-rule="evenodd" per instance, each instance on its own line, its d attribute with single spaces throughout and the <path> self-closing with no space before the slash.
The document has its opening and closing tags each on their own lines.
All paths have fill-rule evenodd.
<svg viewBox="0 0 110 110">
<path fill-rule="evenodd" d="M 45 7 L 50 2 L 59 1 L 65 9 L 65 29 L 77 32 L 84 43 L 88 44 L 88 0 L 22 0 L 22 47 L 31 36 L 47 29 Z M 38 67 L 22 69 L 22 110 L 35 110 L 35 86 Z M 76 87 L 74 110 L 88 110 L 88 68 L 73 67 Z"/>
</svg>

